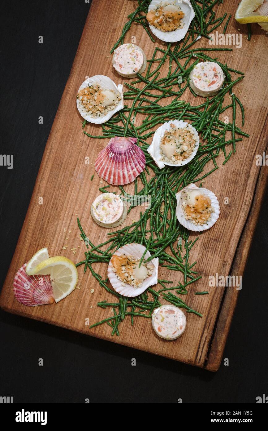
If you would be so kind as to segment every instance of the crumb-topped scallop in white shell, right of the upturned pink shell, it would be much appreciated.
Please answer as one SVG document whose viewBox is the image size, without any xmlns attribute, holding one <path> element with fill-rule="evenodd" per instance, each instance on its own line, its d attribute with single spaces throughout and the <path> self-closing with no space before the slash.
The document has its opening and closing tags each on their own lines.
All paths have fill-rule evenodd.
<svg viewBox="0 0 268 431">
<path fill-rule="evenodd" d="M 168 157 L 168 155 L 169 155 L 168 153 L 166 153 L 166 155 L 163 153 L 163 151 L 161 150 L 161 141 L 162 141 L 162 139 L 163 139 L 163 137 L 167 131 L 173 132 L 176 129 L 182 129 L 182 133 L 186 133 L 186 135 L 188 135 L 188 136 L 192 135 L 192 138 L 191 138 L 192 147 L 190 148 L 191 151 L 186 150 L 186 152 L 185 152 L 185 156 L 187 155 L 187 153 L 189 153 L 188 157 L 184 156 L 185 158 L 182 160 L 179 160 L 178 162 L 176 162 L 175 160 L 173 160 L 173 162 L 169 162 L 168 161 L 169 158 L 170 158 L 170 161 L 172 161 L 171 156 Z M 170 138 L 168 138 L 168 139 L 170 140 Z M 176 141 L 173 140 L 173 144 L 165 145 L 166 150 L 173 151 L 173 153 L 174 153 L 174 146 L 176 147 L 176 142 L 178 142 L 178 138 L 176 138 Z M 178 151 L 180 149 L 183 150 L 183 146 L 185 145 L 184 141 L 182 141 L 182 143 L 179 145 L 180 145 L 180 147 L 179 148 L 177 147 Z M 160 169 L 163 169 L 165 167 L 165 165 L 177 166 L 177 167 L 186 165 L 187 163 L 189 163 L 194 158 L 194 156 L 197 153 L 198 147 L 199 147 L 199 136 L 198 136 L 196 129 L 191 124 L 184 122 L 182 120 L 172 120 L 172 121 L 168 121 L 168 122 L 164 123 L 162 126 L 160 126 L 155 131 L 153 141 L 152 141 L 150 147 L 148 147 L 147 151 L 152 156 L 152 158 L 156 162 L 157 166 Z M 178 156 L 179 156 L 179 153 L 178 153 Z M 174 158 L 174 156 L 173 156 L 173 158 Z"/>
</svg>

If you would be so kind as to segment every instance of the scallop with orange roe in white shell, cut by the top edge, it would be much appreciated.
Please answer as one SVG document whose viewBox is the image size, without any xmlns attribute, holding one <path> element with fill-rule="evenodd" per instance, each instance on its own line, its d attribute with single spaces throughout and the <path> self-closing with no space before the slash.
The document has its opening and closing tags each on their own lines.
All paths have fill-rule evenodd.
<svg viewBox="0 0 268 431">
<path fill-rule="evenodd" d="M 157 9 L 161 8 L 159 18 L 157 16 L 157 19 L 163 19 L 165 18 L 165 12 L 176 12 L 176 11 L 182 11 L 184 16 L 180 20 L 180 27 L 173 31 L 163 31 L 160 30 L 160 28 L 157 28 L 154 25 L 149 24 L 149 27 L 151 29 L 151 32 L 158 37 L 161 41 L 164 42 L 177 42 L 181 41 L 183 37 L 185 37 L 185 34 L 188 31 L 188 28 L 191 24 L 192 19 L 195 16 L 194 9 L 191 6 L 191 3 L 189 0 L 153 0 L 149 7 L 148 7 L 148 14 L 149 12 L 154 12 Z M 163 12 L 163 14 L 161 13 Z"/>
</svg>

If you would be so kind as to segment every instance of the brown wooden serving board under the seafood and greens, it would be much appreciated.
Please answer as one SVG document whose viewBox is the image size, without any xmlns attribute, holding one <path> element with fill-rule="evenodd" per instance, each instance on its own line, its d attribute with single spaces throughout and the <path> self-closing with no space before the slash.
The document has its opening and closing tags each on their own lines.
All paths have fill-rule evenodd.
<svg viewBox="0 0 268 431">
<path fill-rule="evenodd" d="M 218 8 L 217 16 L 222 16 L 225 11 L 234 16 L 236 7 L 237 4 L 231 0 L 224 1 Z M 201 312 L 203 318 L 187 314 L 187 330 L 183 337 L 174 342 L 157 337 L 151 328 L 150 319 L 137 318 L 131 327 L 127 317 L 120 325 L 120 337 L 112 337 L 111 328 L 106 324 L 89 329 L 85 325 L 86 318 L 92 324 L 112 314 L 110 309 L 99 308 L 96 303 L 100 300 L 111 301 L 113 298 L 99 286 L 89 271 L 83 274 L 83 266 L 78 268 L 80 289 L 75 289 L 58 304 L 23 306 L 15 300 L 12 291 L 12 281 L 18 268 L 42 247 L 48 248 L 50 256 L 62 255 L 74 262 L 84 259 L 86 247 L 79 240 L 77 216 L 94 244 L 99 244 L 106 238 L 108 231 L 95 225 L 90 215 L 90 206 L 99 195 L 99 187 L 106 185 L 95 173 L 93 163 L 108 140 L 89 139 L 83 134 L 81 117 L 76 108 L 76 95 L 86 75 L 108 75 L 116 84 L 124 82 L 124 78 L 112 68 L 109 51 L 120 36 L 127 15 L 135 8 L 135 1 L 92 2 L 46 144 L 30 206 L 3 286 L 0 305 L 6 311 L 31 319 L 216 371 L 222 359 L 238 290 L 234 287 L 225 290 L 222 287 L 209 287 L 208 277 L 216 273 L 243 274 L 267 183 L 267 169 L 260 169 L 255 163 L 256 154 L 262 154 L 266 149 L 268 136 L 268 109 L 265 100 L 267 56 L 263 55 L 267 37 L 258 25 L 253 25 L 254 35 L 251 41 L 247 41 L 244 37 L 246 26 L 231 19 L 228 33 L 242 33 L 242 47 L 233 47 L 232 52 L 222 51 L 214 55 L 222 63 L 228 62 L 229 66 L 246 73 L 245 78 L 236 85 L 235 93 L 245 107 L 246 122 L 243 130 L 250 134 L 250 138 L 237 143 L 236 154 L 225 166 L 222 166 L 221 155 L 217 159 L 219 169 L 209 175 L 204 183 L 204 187 L 217 195 L 221 214 L 216 225 L 200 235 L 191 251 L 192 262 L 197 261 L 195 270 L 203 277 L 191 285 L 187 298 L 183 298 L 188 305 Z M 223 26 L 217 29 L 219 33 L 222 28 Z M 141 26 L 132 26 L 125 42 L 130 42 L 132 35 L 136 36 L 136 43 L 143 48 L 148 58 L 151 58 L 155 46 L 164 46 L 160 41 L 154 45 Z M 207 39 L 202 38 L 194 47 L 209 47 Z M 211 56 L 213 57 L 213 53 Z M 183 99 L 192 104 L 203 101 L 200 97 L 194 99 L 188 89 Z M 236 122 L 241 127 L 239 109 Z M 98 135 L 101 134 L 101 127 L 87 125 L 86 131 Z M 92 162 L 90 164 L 85 163 L 85 157 L 88 156 Z M 211 168 L 212 166 L 207 166 L 207 172 Z M 90 181 L 94 173 L 94 179 Z M 115 190 L 116 187 L 109 189 Z M 126 190 L 131 192 L 132 185 L 127 186 Z M 43 204 L 39 204 L 39 197 L 43 197 Z M 225 197 L 229 199 L 228 205 L 224 204 Z M 130 213 L 127 224 L 132 219 L 138 219 L 139 211 L 140 208 Z M 193 237 L 194 235 L 191 236 Z M 68 248 L 63 250 L 65 244 Z M 72 248 L 76 248 L 75 255 Z M 95 265 L 95 270 L 106 278 L 107 265 Z M 160 268 L 159 278 L 173 279 L 176 284 L 182 281 L 180 273 L 166 268 Z M 92 289 L 94 293 L 91 293 Z M 209 290 L 209 295 L 194 295 L 197 290 Z"/>
</svg>

